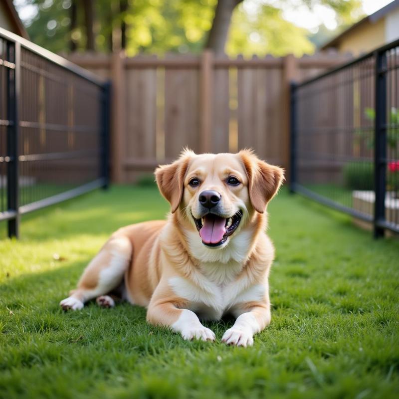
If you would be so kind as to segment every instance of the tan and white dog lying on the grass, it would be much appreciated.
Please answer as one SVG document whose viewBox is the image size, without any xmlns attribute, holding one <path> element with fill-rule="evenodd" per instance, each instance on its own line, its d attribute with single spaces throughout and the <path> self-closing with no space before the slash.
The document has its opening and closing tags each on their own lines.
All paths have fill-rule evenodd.
<svg viewBox="0 0 399 399">
<path fill-rule="evenodd" d="M 274 257 L 265 233 L 266 205 L 283 180 L 283 170 L 252 152 L 196 155 L 184 151 L 155 172 L 171 203 L 167 221 L 120 228 L 85 269 L 63 309 L 81 309 L 106 295 L 148 308 L 147 320 L 182 334 L 214 341 L 200 319 L 236 317 L 222 341 L 252 345 L 270 323 L 268 274 Z"/>
</svg>

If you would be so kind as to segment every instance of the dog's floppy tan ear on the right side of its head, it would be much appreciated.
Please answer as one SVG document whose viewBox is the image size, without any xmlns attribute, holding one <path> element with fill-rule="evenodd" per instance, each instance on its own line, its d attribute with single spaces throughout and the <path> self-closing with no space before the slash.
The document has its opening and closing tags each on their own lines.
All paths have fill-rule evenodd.
<svg viewBox="0 0 399 399">
<path fill-rule="evenodd" d="M 263 213 L 269 202 L 284 181 L 284 170 L 259 160 L 252 151 L 238 153 L 248 177 L 249 199 L 253 208 Z"/>
</svg>

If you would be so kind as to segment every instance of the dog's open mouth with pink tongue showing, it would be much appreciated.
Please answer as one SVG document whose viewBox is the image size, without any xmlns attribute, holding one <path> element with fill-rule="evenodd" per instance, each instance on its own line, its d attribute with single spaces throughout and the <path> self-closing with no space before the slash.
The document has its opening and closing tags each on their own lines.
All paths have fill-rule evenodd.
<svg viewBox="0 0 399 399">
<path fill-rule="evenodd" d="M 227 240 L 227 237 L 236 230 L 240 224 L 241 217 L 242 212 L 240 210 L 227 218 L 213 213 L 207 213 L 200 219 L 196 219 L 193 216 L 202 242 L 207 246 L 219 246 L 223 244 Z"/>
</svg>

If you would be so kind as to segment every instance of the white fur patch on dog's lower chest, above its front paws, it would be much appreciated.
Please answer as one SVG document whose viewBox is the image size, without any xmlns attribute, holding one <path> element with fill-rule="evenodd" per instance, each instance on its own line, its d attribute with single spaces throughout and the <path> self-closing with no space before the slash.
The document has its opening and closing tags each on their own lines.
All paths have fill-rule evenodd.
<svg viewBox="0 0 399 399">
<path fill-rule="evenodd" d="M 201 280 L 195 284 L 183 277 L 172 277 L 169 285 L 176 295 L 188 301 L 188 309 L 205 320 L 218 320 L 238 305 L 259 301 L 265 294 L 263 285 L 249 285 L 246 279 L 226 284 L 217 284 L 205 277 Z"/>
</svg>

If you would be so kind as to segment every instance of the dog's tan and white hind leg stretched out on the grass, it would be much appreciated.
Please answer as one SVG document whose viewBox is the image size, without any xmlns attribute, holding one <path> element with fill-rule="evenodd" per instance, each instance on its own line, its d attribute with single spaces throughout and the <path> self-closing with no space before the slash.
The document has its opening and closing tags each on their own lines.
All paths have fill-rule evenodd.
<svg viewBox="0 0 399 399">
<path fill-rule="evenodd" d="M 62 309 L 82 309 L 85 302 L 117 288 L 123 281 L 131 257 L 131 241 L 128 237 L 115 233 L 87 265 L 77 289 L 60 302 Z M 98 304 L 101 306 L 101 300 Z"/>
</svg>

